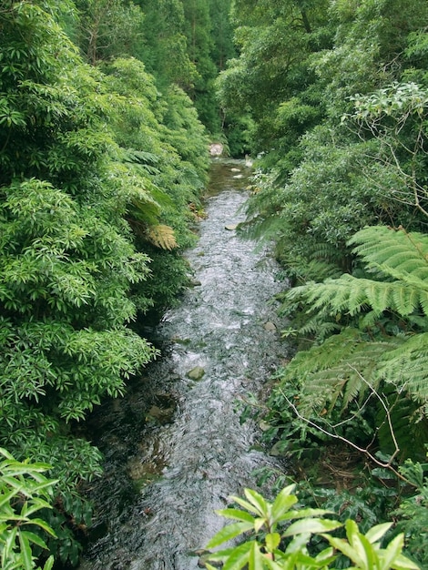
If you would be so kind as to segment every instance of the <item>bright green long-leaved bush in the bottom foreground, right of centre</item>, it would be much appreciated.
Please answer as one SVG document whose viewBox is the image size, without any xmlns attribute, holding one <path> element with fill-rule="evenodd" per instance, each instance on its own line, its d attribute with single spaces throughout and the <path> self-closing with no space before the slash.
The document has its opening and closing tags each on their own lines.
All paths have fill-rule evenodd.
<svg viewBox="0 0 428 570">
<path fill-rule="evenodd" d="M 342 524 L 327 518 L 331 511 L 299 508 L 293 490 L 294 485 L 285 487 L 272 503 L 251 489 L 245 489 L 247 500 L 231 497 L 242 509 L 222 509 L 218 514 L 238 522 L 223 527 L 207 547 L 219 546 L 241 534 L 245 534 L 245 540 L 238 546 L 207 555 L 206 567 L 214 570 L 209 562 L 221 561 L 224 570 L 327 569 L 336 567 L 339 552 L 348 559 L 348 564 L 342 567 L 418 570 L 419 566 L 402 554 L 403 534 L 382 546 L 382 536 L 392 523 L 377 524 L 362 534 L 358 525 L 348 519 L 344 524 L 346 537 L 336 537 L 331 533 L 340 529 Z M 310 552 L 311 541 L 318 538 L 323 539 L 326 547 L 313 555 Z"/>
</svg>

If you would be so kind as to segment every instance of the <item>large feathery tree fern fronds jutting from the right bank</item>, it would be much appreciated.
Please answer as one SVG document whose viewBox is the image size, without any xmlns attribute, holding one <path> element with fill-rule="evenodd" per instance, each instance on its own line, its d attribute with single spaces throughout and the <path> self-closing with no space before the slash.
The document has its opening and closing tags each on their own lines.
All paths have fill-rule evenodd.
<svg viewBox="0 0 428 570">
<path fill-rule="evenodd" d="M 359 231 L 350 241 L 355 244 L 354 252 L 374 279 L 344 274 L 284 294 L 284 305 L 306 307 L 310 315 L 301 331 L 312 332 L 320 321 L 341 323 L 345 315 L 353 319 L 353 328 L 298 352 L 281 373 L 280 385 L 300 384 L 298 407 L 306 417 L 329 417 L 333 409 L 343 413 L 352 403 L 364 413 L 363 402 L 372 392 L 381 423 L 386 419 L 382 392 L 386 387 L 391 393 L 393 386 L 401 410 L 392 406 L 390 419 L 408 450 L 415 431 L 427 427 L 428 237 L 375 227 Z M 388 438 L 391 428 L 384 426 L 382 442 Z"/>
</svg>

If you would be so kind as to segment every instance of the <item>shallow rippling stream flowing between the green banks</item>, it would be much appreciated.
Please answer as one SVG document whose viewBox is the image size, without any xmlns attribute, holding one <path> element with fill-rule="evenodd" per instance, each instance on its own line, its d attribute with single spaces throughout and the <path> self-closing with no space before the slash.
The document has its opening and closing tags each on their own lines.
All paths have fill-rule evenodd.
<svg viewBox="0 0 428 570">
<path fill-rule="evenodd" d="M 187 255 L 195 286 L 156 329 L 163 355 L 92 420 L 106 473 L 91 492 L 97 527 L 81 570 L 197 568 L 195 551 L 224 524 L 214 509 L 274 464 L 236 408 L 285 357 L 270 303 L 283 284 L 269 253 L 234 230 L 248 169 L 216 159 L 211 170 L 207 218 Z M 190 380 L 195 367 L 204 374 Z"/>
</svg>

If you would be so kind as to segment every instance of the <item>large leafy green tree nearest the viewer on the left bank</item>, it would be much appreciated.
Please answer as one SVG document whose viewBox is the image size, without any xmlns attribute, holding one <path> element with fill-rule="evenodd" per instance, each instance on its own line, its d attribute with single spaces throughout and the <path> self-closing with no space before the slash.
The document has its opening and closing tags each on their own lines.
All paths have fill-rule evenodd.
<svg viewBox="0 0 428 570">
<path fill-rule="evenodd" d="M 10 2 L 0 14 L 0 441 L 49 459 L 68 492 L 99 472 L 70 422 L 122 393 L 156 351 L 127 328 L 148 257 L 111 183 L 99 76 L 42 6 Z"/>
</svg>

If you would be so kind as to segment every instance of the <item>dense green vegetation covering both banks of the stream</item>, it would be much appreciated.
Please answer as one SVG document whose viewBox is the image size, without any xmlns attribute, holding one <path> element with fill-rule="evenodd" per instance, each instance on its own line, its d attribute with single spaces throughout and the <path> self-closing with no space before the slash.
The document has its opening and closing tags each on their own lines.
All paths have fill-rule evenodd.
<svg viewBox="0 0 428 570">
<path fill-rule="evenodd" d="M 140 331 L 187 284 L 209 137 L 258 156 L 242 234 L 274 242 L 285 281 L 297 353 L 263 403 L 266 443 L 306 473 L 303 502 L 359 521 L 350 540 L 378 549 L 369 528 L 393 516 L 428 565 L 427 22 L 424 0 L 3 0 L 11 567 L 34 567 L 30 543 L 37 555 L 45 540 L 76 563 L 71 529 L 90 514 L 79 487 L 101 461 L 76 423 L 156 358 Z M 319 488 L 309 465 L 344 456 L 339 443 L 361 458 L 358 477 Z M 21 532 L 40 512 L 47 523 Z M 254 553 L 279 546 L 263 540 Z"/>
</svg>

